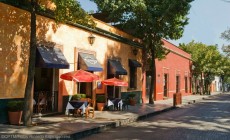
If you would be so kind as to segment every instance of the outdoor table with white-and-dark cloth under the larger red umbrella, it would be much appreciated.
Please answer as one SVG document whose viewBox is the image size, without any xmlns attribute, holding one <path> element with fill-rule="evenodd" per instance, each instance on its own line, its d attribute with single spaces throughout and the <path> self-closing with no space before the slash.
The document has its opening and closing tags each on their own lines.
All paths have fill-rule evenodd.
<svg viewBox="0 0 230 140">
<path fill-rule="evenodd" d="M 87 101 L 69 101 L 66 110 L 69 111 L 70 109 L 81 109 L 82 114 L 84 114 L 87 105 L 88 105 Z"/>
</svg>

